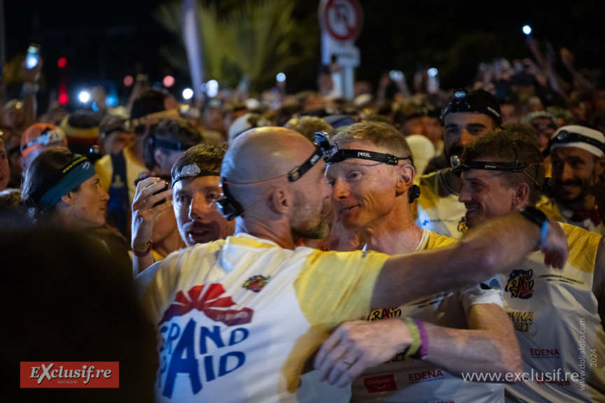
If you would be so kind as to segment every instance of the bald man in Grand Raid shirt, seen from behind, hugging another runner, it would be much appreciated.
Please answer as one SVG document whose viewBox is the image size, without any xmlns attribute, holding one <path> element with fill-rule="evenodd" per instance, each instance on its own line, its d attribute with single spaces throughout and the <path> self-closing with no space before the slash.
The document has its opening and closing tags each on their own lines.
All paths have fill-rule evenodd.
<svg viewBox="0 0 605 403">
<path fill-rule="evenodd" d="M 137 277 L 159 334 L 160 402 L 297 402 L 300 375 L 321 342 L 370 306 L 478 283 L 513 267 L 538 243 L 547 262 L 564 264 L 562 230 L 550 225 L 540 241 L 540 227 L 520 213 L 427 253 L 297 248 L 299 239 L 328 231 L 323 151 L 278 127 L 237 137 L 223 159 L 218 201 L 223 215 L 235 218 L 235 235 L 179 250 Z M 430 343 L 422 323 L 393 323 L 398 342 L 373 355 L 324 346 L 316 360 L 321 374 L 342 386 L 365 367 Z M 301 390 L 313 387 L 302 383 Z"/>
</svg>

